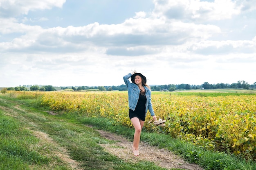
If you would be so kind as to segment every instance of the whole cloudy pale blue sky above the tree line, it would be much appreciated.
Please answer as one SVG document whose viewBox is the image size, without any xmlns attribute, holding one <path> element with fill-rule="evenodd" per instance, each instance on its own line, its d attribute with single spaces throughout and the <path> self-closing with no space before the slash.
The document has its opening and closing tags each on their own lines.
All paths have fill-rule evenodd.
<svg viewBox="0 0 256 170">
<path fill-rule="evenodd" d="M 256 0 L 0 0 L 0 87 L 256 82 Z"/>
</svg>

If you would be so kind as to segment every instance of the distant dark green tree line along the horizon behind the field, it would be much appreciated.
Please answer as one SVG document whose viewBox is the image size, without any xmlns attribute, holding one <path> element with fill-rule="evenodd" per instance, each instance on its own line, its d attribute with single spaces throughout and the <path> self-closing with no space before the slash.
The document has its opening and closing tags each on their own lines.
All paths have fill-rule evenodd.
<svg viewBox="0 0 256 170">
<path fill-rule="evenodd" d="M 217 83 L 217 84 L 209 84 L 208 82 L 204 82 L 202 85 L 190 85 L 190 84 L 169 84 L 169 85 L 151 85 L 152 91 L 169 91 L 173 92 L 177 89 L 256 89 L 256 82 L 252 85 L 249 85 L 246 81 L 238 81 L 237 83 L 227 84 L 227 83 Z M 56 91 L 56 89 L 52 85 L 45 85 L 39 87 L 38 85 L 32 85 L 29 87 L 30 91 Z M 15 91 L 29 91 L 25 86 L 19 87 L 8 87 L 7 90 L 15 90 Z M 74 91 L 82 91 L 82 90 L 99 90 L 99 91 L 126 91 L 128 88 L 126 85 L 119 86 L 79 86 L 79 87 L 61 87 L 61 90 L 72 89 Z"/>
</svg>

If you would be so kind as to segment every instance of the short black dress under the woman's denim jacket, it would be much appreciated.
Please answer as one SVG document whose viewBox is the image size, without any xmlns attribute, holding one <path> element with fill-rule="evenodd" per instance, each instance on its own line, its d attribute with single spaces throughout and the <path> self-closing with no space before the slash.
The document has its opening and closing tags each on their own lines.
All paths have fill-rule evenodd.
<svg viewBox="0 0 256 170">
<path fill-rule="evenodd" d="M 142 121 L 145 121 L 146 118 L 146 95 L 144 93 L 139 93 L 139 100 L 135 107 L 135 110 L 129 109 L 129 117 L 131 118 L 139 118 Z"/>
</svg>

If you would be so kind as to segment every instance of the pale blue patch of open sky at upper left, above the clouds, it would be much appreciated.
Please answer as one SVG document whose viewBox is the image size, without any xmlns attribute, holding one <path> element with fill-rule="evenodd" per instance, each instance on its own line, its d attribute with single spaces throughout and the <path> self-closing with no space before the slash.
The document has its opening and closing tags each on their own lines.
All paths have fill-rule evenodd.
<svg viewBox="0 0 256 170">
<path fill-rule="evenodd" d="M 154 4 L 149 0 L 66 0 L 61 8 L 29 11 L 26 17 L 32 20 L 47 18 L 47 21 L 27 22 L 46 28 L 83 26 L 94 22 L 119 24 L 134 16 L 137 11 L 151 11 L 153 8 Z M 20 19 L 23 17 L 25 15 Z"/>
</svg>

